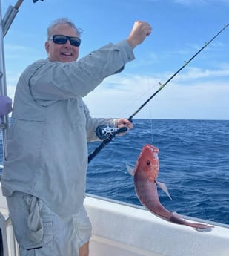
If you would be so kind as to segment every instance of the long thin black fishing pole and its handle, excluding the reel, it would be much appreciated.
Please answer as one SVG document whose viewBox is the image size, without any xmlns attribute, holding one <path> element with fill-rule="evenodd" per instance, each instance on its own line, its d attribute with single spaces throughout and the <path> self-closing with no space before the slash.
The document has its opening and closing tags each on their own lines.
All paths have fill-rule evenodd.
<svg viewBox="0 0 229 256">
<path fill-rule="evenodd" d="M 209 42 L 206 42 L 205 45 L 199 49 L 187 62 L 185 62 L 184 65 L 182 65 L 181 68 L 179 68 L 179 70 L 176 71 L 176 73 L 173 73 L 172 76 L 170 76 L 169 79 L 167 79 L 167 81 L 162 84 L 159 82 L 159 89 L 153 93 L 129 118 L 128 120 L 130 122 L 133 122 L 133 116 L 136 116 L 136 114 L 139 113 L 139 111 L 142 110 L 142 108 L 145 107 L 145 105 L 147 105 L 148 102 L 150 102 L 151 99 L 153 99 L 154 96 L 156 96 L 157 93 L 159 93 L 159 91 L 162 91 L 163 88 L 165 88 L 165 86 L 183 69 L 185 68 L 199 53 L 202 52 L 202 50 L 205 49 L 205 47 L 207 47 L 208 45 L 210 45 L 211 42 L 213 42 L 214 39 L 216 39 L 217 36 L 219 36 L 220 33 L 222 33 L 223 30 L 225 30 L 227 27 L 229 26 L 229 23 L 225 25 L 225 27 L 222 28 L 222 30 L 220 30 L 218 33 L 216 33 L 215 36 L 213 36 L 212 39 L 210 39 Z M 105 131 L 105 130 L 104 130 Z M 122 129 L 122 131 L 124 131 Z M 126 131 L 127 131 L 127 128 L 126 128 Z M 99 152 L 102 150 L 102 148 L 104 148 L 105 145 L 109 144 L 113 138 L 116 136 L 116 133 L 113 132 L 113 133 L 110 133 L 108 134 L 107 138 L 105 140 L 103 140 L 101 142 L 101 144 L 88 156 L 88 163 L 90 163 L 91 160 L 93 160 L 94 157 L 96 157 L 97 154 L 99 154 Z"/>
</svg>

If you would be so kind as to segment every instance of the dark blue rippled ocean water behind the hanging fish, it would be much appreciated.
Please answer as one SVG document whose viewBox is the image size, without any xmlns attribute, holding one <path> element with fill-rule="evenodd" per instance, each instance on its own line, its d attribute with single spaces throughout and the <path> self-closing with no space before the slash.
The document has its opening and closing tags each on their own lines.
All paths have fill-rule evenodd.
<svg viewBox="0 0 229 256">
<path fill-rule="evenodd" d="M 173 198 L 158 189 L 165 208 L 229 224 L 229 120 L 133 119 L 133 129 L 89 163 L 87 193 L 141 205 L 126 163 L 133 167 L 147 143 L 159 148 L 158 180 Z M 89 143 L 89 153 L 99 144 Z"/>
</svg>

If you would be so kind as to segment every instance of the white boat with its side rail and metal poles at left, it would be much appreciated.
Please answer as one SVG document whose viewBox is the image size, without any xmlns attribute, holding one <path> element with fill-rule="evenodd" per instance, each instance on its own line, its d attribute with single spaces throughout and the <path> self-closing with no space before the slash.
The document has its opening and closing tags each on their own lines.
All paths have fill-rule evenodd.
<svg viewBox="0 0 229 256">
<path fill-rule="evenodd" d="M 16 16 L 22 1 L 18 1 L 15 7 L 10 7 L 4 20 L 0 19 L 0 72 L 2 74 L 5 74 L 2 39 L 9 29 L 14 16 Z M 1 95 L 7 95 L 4 76 L 1 76 Z M 7 133 L 8 125 L 8 116 L 6 114 L 0 125 L 3 137 Z M 0 171 L 3 168 L 3 166 L 0 166 Z M 87 194 L 84 206 L 93 226 L 93 236 L 90 240 L 90 256 L 229 255 L 229 225 L 182 216 L 182 218 L 190 222 L 206 223 L 214 226 L 209 232 L 199 232 L 188 226 L 162 220 L 142 206 L 96 197 L 91 194 Z M 13 234 L 7 202 L 1 192 L 0 256 L 19 256 L 19 248 Z"/>
</svg>

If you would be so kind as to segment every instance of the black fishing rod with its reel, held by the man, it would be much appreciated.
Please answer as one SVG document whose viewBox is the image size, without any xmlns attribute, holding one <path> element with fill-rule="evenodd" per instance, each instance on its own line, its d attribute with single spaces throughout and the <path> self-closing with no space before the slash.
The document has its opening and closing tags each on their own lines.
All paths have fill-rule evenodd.
<svg viewBox="0 0 229 256">
<path fill-rule="evenodd" d="M 213 42 L 214 39 L 216 39 L 217 36 L 219 36 L 220 33 L 222 33 L 223 30 L 225 30 L 227 27 L 229 26 L 229 23 L 225 25 L 225 27 L 222 28 L 222 30 L 220 30 L 215 36 L 213 36 L 212 39 L 210 39 L 209 42 L 206 42 L 205 45 L 199 49 L 187 62 L 185 62 L 184 65 L 182 65 L 181 68 L 179 68 L 179 70 L 176 71 L 176 73 L 173 73 L 173 76 L 170 76 L 169 79 L 167 79 L 167 81 L 162 84 L 161 82 L 159 82 L 159 89 L 153 93 L 129 118 L 128 120 L 130 122 L 133 122 L 133 116 L 136 116 L 136 114 L 139 113 L 139 111 L 142 110 L 142 108 L 145 107 L 145 105 L 147 105 L 148 102 L 150 102 L 151 99 L 153 99 L 154 96 L 156 96 L 157 93 L 159 93 L 159 91 L 162 91 L 163 88 L 165 88 L 165 86 L 183 69 L 185 68 L 200 52 L 202 52 L 202 50 L 205 49 L 205 47 L 207 47 L 208 45 L 210 45 L 211 42 Z M 120 131 L 120 129 L 122 129 Z M 114 137 L 116 137 L 116 134 L 119 134 L 121 132 L 125 132 L 127 131 L 127 128 L 122 127 L 120 129 L 116 129 L 116 131 L 110 131 L 109 127 L 104 127 L 104 125 L 100 125 L 98 128 L 96 128 L 96 134 L 99 138 L 104 140 L 101 142 L 101 144 L 88 156 L 88 163 L 90 163 L 91 160 L 93 160 L 94 157 L 96 157 L 97 154 L 99 154 L 99 152 L 102 150 L 102 148 L 104 148 L 105 145 L 109 144 Z"/>
</svg>

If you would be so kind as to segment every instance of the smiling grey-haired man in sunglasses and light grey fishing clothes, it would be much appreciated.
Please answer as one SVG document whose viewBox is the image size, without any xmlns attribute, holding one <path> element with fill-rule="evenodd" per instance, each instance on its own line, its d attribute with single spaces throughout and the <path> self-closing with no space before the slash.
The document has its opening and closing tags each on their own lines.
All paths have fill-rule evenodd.
<svg viewBox="0 0 229 256">
<path fill-rule="evenodd" d="M 16 88 L 2 177 L 21 256 L 88 255 L 87 142 L 99 140 L 98 125 L 132 125 L 127 119 L 91 118 L 82 97 L 122 71 L 150 33 L 149 24 L 135 22 L 126 40 L 76 62 L 76 26 L 58 19 L 47 29 L 48 59 L 27 67 Z"/>
</svg>

